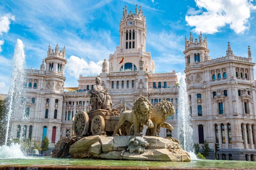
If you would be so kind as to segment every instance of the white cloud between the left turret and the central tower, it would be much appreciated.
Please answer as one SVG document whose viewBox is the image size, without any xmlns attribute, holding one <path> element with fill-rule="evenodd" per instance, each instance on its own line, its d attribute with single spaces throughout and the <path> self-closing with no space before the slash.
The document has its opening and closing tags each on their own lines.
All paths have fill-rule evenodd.
<svg viewBox="0 0 256 170">
<path fill-rule="evenodd" d="M 102 62 L 103 61 L 90 61 L 88 63 L 82 58 L 70 56 L 70 58 L 67 59 L 67 73 L 76 78 L 79 78 L 79 75 L 87 76 L 100 74 L 102 71 Z"/>
</svg>

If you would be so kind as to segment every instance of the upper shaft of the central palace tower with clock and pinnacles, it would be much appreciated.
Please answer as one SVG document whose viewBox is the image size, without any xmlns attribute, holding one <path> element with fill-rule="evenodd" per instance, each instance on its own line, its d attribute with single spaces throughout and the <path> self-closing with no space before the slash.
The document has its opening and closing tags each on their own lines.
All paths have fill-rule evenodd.
<svg viewBox="0 0 256 170">
<path fill-rule="evenodd" d="M 146 18 L 143 11 L 136 5 L 135 13 L 128 13 L 127 6 L 123 8 L 123 15 L 120 22 L 120 52 L 137 52 L 140 49 L 145 51 L 146 44 Z"/>
</svg>

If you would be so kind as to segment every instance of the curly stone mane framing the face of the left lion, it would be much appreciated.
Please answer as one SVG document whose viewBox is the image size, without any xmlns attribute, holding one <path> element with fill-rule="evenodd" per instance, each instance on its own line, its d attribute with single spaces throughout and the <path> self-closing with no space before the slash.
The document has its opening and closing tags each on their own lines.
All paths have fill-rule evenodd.
<svg viewBox="0 0 256 170">
<path fill-rule="evenodd" d="M 148 104 L 149 111 L 147 114 L 143 114 L 140 112 L 140 103 L 141 102 L 146 102 Z M 135 115 L 137 116 L 137 119 L 140 122 L 140 125 L 143 125 L 149 119 L 149 117 L 151 115 L 152 105 L 146 97 L 142 96 L 134 102 L 134 106 L 132 107 L 132 110 L 134 111 Z"/>
</svg>

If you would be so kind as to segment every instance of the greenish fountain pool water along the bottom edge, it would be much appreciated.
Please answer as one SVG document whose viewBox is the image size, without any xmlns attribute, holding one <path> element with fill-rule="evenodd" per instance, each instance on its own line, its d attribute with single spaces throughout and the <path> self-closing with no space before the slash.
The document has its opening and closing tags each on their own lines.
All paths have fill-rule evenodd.
<svg viewBox="0 0 256 170">
<path fill-rule="evenodd" d="M 56 159 L 32 157 L 32 159 L 0 159 L 0 165 L 11 166 L 119 166 L 119 167 L 183 167 L 183 168 L 255 168 L 256 161 L 195 160 L 191 162 L 125 161 L 100 159 Z"/>
</svg>

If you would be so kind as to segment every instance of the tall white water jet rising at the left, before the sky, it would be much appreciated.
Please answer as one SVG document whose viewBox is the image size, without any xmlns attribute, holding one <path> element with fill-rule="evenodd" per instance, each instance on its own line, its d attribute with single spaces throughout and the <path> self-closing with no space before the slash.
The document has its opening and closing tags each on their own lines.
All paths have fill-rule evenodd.
<svg viewBox="0 0 256 170">
<path fill-rule="evenodd" d="M 20 39 L 17 39 L 17 44 L 15 46 L 14 55 L 12 58 L 12 63 L 14 65 L 12 72 L 12 84 L 9 89 L 7 102 L 7 119 L 6 119 L 6 136 L 5 145 L 7 144 L 9 136 L 10 121 L 13 113 L 18 113 L 20 110 L 24 110 L 24 104 L 20 104 L 20 97 L 23 96 L 23 84 L 25 78 L 24 65 L 25 65 L 25 53 L 24 45 Z M 24 113 L 24 112 L 23 112 Z"/>
</svg>

